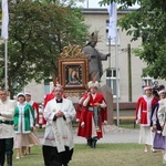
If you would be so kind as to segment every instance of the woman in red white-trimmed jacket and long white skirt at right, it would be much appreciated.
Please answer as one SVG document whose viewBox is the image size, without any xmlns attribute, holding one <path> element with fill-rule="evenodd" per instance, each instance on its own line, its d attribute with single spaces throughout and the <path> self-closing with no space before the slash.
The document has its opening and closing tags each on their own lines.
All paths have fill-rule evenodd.
<svg viewBox="0 0 166 166">
<path fill-rule="evenodd" d="M 136 104 L 136 123 L 141 125 L 139 144 L 144 144 L 144 152 L 148 152 L 147 145 L 153 145 L 153 133 L 151 128 L 151 114 L 157 98 L 153 96 L 153 87 L 145 86 L 144 95 L 141 96 Z"/>
</svg>

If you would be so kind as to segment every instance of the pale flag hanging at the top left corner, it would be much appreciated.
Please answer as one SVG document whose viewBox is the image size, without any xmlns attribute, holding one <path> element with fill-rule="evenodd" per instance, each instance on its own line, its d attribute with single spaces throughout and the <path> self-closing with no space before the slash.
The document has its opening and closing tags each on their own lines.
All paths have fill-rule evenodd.
<svg viewBox="0 0 166 166">
<path fill-rule="evenodd" d="M 9 11 L 8 11 L 8 0 L 2 0 L 2 27 L 1 37 L 8 39 L 8 24 L 9 24 Z"/>
</svg>

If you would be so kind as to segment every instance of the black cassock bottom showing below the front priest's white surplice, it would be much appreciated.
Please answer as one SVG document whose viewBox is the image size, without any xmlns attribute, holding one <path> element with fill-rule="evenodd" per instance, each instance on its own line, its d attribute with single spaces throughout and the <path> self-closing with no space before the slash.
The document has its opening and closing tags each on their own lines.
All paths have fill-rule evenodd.
<svg viewBox="0 0 166 166">
<path fill-rule="evenodd" d="M 66 166 L 73 155 L 73 148 L 70 151 L 68 146 L 64 152 L 59 153 L 56 147 L 43 145 L 42 152 L 45 166 Z"/>
</svg>

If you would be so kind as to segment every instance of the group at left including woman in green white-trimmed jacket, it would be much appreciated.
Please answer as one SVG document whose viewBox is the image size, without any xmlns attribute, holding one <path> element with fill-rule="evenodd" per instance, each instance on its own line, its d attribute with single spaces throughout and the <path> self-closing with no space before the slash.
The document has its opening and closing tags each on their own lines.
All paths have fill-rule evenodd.
<svg viewBox="0 0 166 166">
<path fill-rule="evenodd" d="M 0 90 L 0 166 L 12 166 L 13 149 L 15 158 L 25 157 L 31 146 L 40 145 L 35 125 L 39 106 L 31 94 L 19 93 L 17 100 L 8 97 L 8 91 Z"/>
</svg>

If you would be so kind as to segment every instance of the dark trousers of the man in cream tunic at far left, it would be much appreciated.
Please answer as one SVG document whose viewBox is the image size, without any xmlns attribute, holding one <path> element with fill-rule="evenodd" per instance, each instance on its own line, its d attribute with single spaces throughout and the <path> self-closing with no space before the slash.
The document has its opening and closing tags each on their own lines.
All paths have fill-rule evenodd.
<svg viewBox="0 0 166 166">
<path fill-rule="evenodd" d="M 4 165 L 6 155 L 13 154 L 13 138 L 0 139 L 0 166 Z"/>
</svg>

